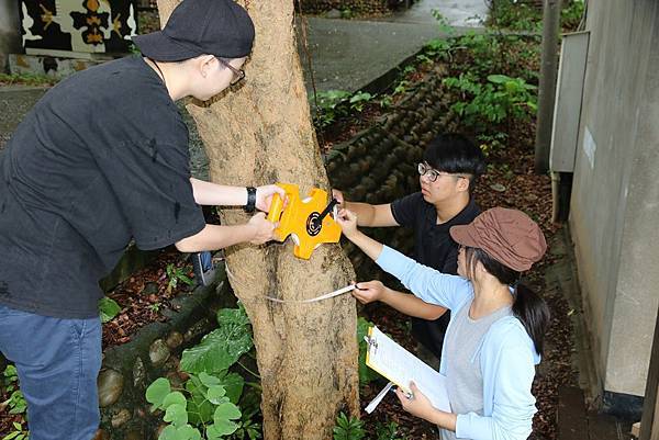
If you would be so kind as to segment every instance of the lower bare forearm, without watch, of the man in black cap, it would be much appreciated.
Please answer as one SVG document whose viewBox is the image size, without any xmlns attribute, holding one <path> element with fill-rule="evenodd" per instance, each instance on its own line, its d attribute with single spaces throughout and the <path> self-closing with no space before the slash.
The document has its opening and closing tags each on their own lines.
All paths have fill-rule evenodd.
<svg viewBox="0 0 659 440">
<path fill-rule="evenodd" d="M 249 224 L 234 226 L 205 225 L 198 234 L 177 241 L 176 248 L 181 252 L 217 250 L 249 241 L 254 236 L 254 227 Z"/>
</svg>

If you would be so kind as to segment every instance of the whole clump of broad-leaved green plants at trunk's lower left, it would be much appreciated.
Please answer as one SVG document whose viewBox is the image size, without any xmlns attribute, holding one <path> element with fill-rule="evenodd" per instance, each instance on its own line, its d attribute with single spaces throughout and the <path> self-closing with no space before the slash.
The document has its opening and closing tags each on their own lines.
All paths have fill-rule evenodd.
<svg viewBox="0 0 659 440">
<path fill-rule="evenodd" d="M 219 311 L 216 318 L 219 328 L 183 351 L 180 370 L 190 375 L 183 387 L 172 388 L 167 379 L 159 377 L 146 391 L 153 410 L 164 411 L 168 424 L 159 440 L 256 440 L 261 436 L 255 421 L 260 385 L 230 371 L 254 347 L 249 319 L 242 305 Z"/>
</svg>

